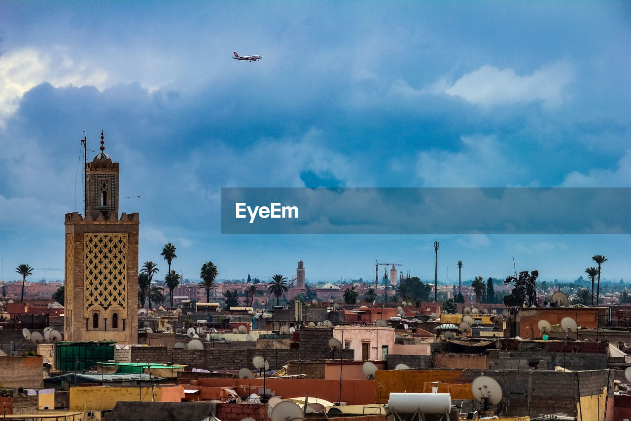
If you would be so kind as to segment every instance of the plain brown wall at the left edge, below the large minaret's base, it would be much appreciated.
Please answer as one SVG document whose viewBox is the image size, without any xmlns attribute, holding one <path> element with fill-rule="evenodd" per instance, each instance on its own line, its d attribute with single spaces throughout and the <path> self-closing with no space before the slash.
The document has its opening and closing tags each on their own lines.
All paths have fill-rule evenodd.
<svg viewBox="0 0 631 421">
<path fill-rule="evenodd" d="M 0 357 L 0 383 L 3 387 L 42 389 L 43 357 Z"/>
</svg>

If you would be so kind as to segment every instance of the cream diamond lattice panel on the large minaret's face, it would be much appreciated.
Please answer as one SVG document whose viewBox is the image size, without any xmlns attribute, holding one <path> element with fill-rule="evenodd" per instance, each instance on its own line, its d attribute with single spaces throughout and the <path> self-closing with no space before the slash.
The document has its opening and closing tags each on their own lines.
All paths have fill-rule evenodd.
<svg viewBox="0 0 631 421">
<path fill-rule="evenodd" d="M 126 308 L 127 234 L 85 234 L 85 312 Z"/>
</svg>

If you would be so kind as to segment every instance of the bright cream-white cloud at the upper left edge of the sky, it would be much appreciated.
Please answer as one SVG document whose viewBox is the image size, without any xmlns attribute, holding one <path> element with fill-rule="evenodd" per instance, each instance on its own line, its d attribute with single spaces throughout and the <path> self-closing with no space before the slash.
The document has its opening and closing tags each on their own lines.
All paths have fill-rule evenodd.
<svg viewBox="0 0 631 421">
<path fill-rule="evenodd" d="M 42 52 L 27 47 L 6 52 L 0 56 L 0 125 L 15 113 L 25 92 L 40 83 L 103 88 L 106 81 L 105 71 L 76 63 L 61 48 Z"/>
</svg>

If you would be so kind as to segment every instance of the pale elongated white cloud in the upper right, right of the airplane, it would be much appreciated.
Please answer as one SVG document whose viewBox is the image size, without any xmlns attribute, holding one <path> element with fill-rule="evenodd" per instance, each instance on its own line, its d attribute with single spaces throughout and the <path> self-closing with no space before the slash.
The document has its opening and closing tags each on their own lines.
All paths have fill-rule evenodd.
<svg viewBox="0 0 631 421">
<path fill-rule="evenodd" d="M 558 107 L 567 99 L 563 91 L 572 81 L 572 73 L 565 62 L 544 66 L 524 76 L 510 68 L 500 70 L 487 65 L 462 76 L 444 93 L 487 107 L 533 101 L 541 101 L 546 107 Z M 435 84 L 433 90 L 442 83 Z"/>
</svg>

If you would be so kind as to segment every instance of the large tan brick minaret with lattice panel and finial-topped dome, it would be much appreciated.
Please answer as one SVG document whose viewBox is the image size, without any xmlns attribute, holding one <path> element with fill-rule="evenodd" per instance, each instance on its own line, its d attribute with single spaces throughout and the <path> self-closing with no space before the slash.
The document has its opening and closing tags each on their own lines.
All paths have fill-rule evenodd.
<svg viewBox="0 0 631 421">
<path fill-rule="evenodd" d="M 138 214 L 119 209 L 119 164 L 85 165 L 85 217 L 66 214 L 67 341 L 138 343 Z"/>
</svg>

